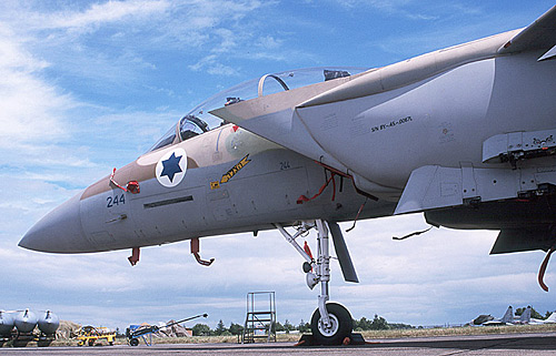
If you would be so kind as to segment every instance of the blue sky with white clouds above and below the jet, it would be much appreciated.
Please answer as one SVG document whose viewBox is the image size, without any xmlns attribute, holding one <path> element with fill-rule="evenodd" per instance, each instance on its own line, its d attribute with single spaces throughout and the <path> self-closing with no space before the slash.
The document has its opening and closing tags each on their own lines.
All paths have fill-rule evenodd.
<svg viewBox="0 0 556 356">
<path fill-rule="evenodd" d="M 216 92 L 288 69 L 380 67 L 525 27 L 550 1 L 2 1 L 0 3 L 0 308 L 123 328 L 209 313 L 242 323 L 245 295 L 276 291 L 278 319 L 308 321 L 317 291 L 277 232 L 202 240 L 205 268 L 178 243 L 51 255 L 17 247 L 48 211 L 135 160 Z M 421 215 L 359 222 L 346 234 L 359 285 L 332 274 L 354 317 L 415 325 L 556 309 L 540 252 L 488 256 L 496 232 L 433 230 Z M 554 267 L 546 282 L 556 289 Z M 499 314 L 499 315 L 498 315 Z"/>
</svg>

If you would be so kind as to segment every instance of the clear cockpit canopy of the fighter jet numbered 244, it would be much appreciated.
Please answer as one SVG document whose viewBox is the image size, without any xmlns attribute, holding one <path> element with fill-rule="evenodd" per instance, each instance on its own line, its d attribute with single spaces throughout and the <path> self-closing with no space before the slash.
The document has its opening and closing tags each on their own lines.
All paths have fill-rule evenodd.
<svg viewBox="0 0 556 356">
<path fill-rule="evenodd" d="M 244 82 L 209 98 L 196 106 L 187 115 L 181 118 L 178 123 L 173 124 L 170 130 L 157 141 L 149 152 L 189 140 L 226 124 L 227 122 L 209 114 L 209 112 L 215 109 L 219 109 L 224 105 L 232 105 L 239 101 L 255 99 L 257 96 L 274 94 L 284 90 L 349 77 L 366 70 L 365 68 L 355 67 L 309 68 L 266 74 L 259 79 Z"/>
</svg>

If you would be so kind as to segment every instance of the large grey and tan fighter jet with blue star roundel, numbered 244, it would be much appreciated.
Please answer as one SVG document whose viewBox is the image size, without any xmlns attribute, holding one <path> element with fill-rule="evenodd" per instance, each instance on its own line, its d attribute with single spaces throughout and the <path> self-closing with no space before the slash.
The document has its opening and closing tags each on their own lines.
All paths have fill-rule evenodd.
<svg viewBox="0 0 556 356">
<path fill-rule="evenodd" d="M 278 230 L 320 285 L 317 343 L 350 336 L 329 301 L 338 222 L 424 212 L 434 226 L 500 231 L 490 253 L 554 251 L 556 7 L 529 27 L 383 68 L 266 74 L 192 109 L 149 152 L 39 221 L 20 246 L 132 248 Z M 317 231 L 317 251 L 296 240 Z M 547 257 L 549 254 L 547 254 Z M 545 260 L 539 281 L 546 268 Z"/>
</svg>

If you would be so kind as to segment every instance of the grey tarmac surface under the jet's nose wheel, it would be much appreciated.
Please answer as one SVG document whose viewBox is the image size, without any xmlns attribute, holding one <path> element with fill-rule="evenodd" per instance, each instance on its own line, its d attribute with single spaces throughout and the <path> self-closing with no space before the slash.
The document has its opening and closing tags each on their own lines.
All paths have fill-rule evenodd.
<svg viewBox="0 0 556 356">
<path fill-rule="evenodd" d="M 1 348 L 1 355 L 555 355 L 556 333 L 443 336 L 373 340 L 360 346 L 296 347 L 292 344 L 180 344 Z"/>
</svg>

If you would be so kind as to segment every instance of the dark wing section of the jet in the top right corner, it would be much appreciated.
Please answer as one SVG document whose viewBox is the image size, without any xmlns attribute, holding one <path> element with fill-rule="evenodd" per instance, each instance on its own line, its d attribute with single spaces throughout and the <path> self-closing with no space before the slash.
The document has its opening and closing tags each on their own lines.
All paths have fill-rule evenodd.
<svg viewBox="0 0 556 356">
<path fill-rule="evenodd" d="M 552 49 L 556 44 L 556 6 L 504 44 L 498 53 Z M 547 53 L 548 54 L 548 53 Z M 554 53 L 556 54 L 556 52 Z M 554 54 L 550 55 L 554 57 Z M 540 58 L 545 60 L 548 58 Z"/>
</svg>

